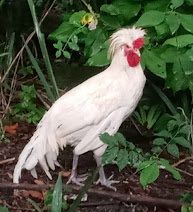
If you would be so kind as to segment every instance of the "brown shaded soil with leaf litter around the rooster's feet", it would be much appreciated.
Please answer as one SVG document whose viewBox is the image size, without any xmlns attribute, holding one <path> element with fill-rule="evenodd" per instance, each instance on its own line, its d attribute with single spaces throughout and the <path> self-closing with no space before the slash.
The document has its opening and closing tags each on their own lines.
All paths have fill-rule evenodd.
<svg viewBox="0 0 193 212">
<path fill-rule="evenodd" d="M 12 182 L 12 173 L 14 166 L 16 164 L 17 158 L 31 137 L 34 126 L 27 124 L 19 124 L 19 128 L 16 135 L 9 135 L 9 143 L 0 143 L 0 183 Z M 1 161 L 13 158 L 15 160 L 1 164 Z M 184 156 L 183 156 L 184 157 Z M 68 179 L 69 171 L 71 168 L 72 162 L 72 151 L 70 148 L 67 148 L 61 152 L 59 157 L 59 162 L 63 165 L 64 177 L 63 181 L 66 182 Z M 91 170 L 95 167 L 95 162 L 93 160 L 92 154 L 88 153 L 83 155 L 80 158 L 79 162 L 79 173 L 86 173 L 88 170 Z M 179 166 L 180 169 L 188 171 L 189 175 L 182 174 L 183 180 L 180 182 L 175 181 L 171 178 L 170 174 L 162 172 L 159 179 L 151 184 L 146 190 L 143 190 L 139 184 L 139 176 L 135 174 L 135 170 L 124 169 L 121 173 L 118 172 L 118 169 L 115 166 L 106 167 L 106 173 L 108 176 L 111 174 L 114 175 L 115 180 L 119 180 L 120 183 L 116 185 L 117 192 L 121 194 L 128 195 L 138 195 L 139 199 L 144 197 L 156 197 L 162 198 L 165 200 L 178 200 L 179 195 L 185 192 L 193 192 L 193 164 L 192 161 L 186 161 L 185 163 Z M 22 174 L 22 183 L 44 183 L 44 184 L 53 184 L 58 176 L 58 172 L 61 171 L 60 168 L 57 168 L 52 173 L 53 181 L 48 180 L 41 169 L 38 169 L 38 180 L 34 182 L 34 179 L 27 171 L 23 171 Z M 192 175 L 192 176 L 190 176 Z M 93 185 L 93 188 L 96 190 L 106 190 L 101 186 Z M 112 191 L 109 191 L 112 192 Z M 13 191 L 7 188 L 0 189 L 0 205 L 7 205 L 10 208 L 10 211 L 35 211 L 33 206 L 27 201 L 27 198 L 31 198 L 36 202 L 42 202 L 42 196 L 38 196 L 35 192 L 32 191 L 27 194 L 21 193 L 18 196 L 13 194 Z M 156 205 L 156 203 L 155 203 Z M 140 204 L 126 204 L 117 200 L 109 198 L 100 197 L 99 195 L 89 195 L 86 202 L 81 204 L 79 211 L 178 211 L 176 209 L 170 208 L 160 208 L 160 207 L 151 207 L 148 205 Z"/>
</svg>

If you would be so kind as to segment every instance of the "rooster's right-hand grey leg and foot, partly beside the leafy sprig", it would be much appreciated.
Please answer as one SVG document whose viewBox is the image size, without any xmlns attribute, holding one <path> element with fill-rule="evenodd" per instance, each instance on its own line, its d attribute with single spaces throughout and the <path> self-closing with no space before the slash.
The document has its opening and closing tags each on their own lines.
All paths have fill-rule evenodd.
<svg viewBox="0 0 193 212">
<path fill-rule="evenodd" d="M 101 165 L 102 164 L 102 158 L 99 157 L 99 156 L 96 156 L 96 155 L 94 157 L 95 157 L 97 166 L 99 167 L 99 179 L 97 180 L 96 184 L 100 183 L 101 185 L 104 185 L 107 188 L 110 188 L 110 189 L 113 189 L 114 191 L 116 191 L 117 189 L 114 186 L 112 186 L 112 184 L 113 183 L 119 183 L 119 181 L 110 180 L 111 177 L 109 179 L 107 179 L 106 176 L 105 176 L 103 166 Z"/>
</svg>

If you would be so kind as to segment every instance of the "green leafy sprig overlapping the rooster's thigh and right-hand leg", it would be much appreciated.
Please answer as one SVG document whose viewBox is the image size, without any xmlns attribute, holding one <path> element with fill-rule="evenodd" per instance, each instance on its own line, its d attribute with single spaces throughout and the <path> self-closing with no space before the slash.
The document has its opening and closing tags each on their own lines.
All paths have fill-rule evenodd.
<svg viewBox="0 0 193 212">
<path fill-rule="evenodd" d="M 137 167 L 144 160 L 142 150 L 127 141 L 121 133 L 114 136 L 104 133 L 100 135 L 100 139 L 108 145 L 102 157 L 103 164 L 117 164 L 121 171 L 127 165 Z"/>
</svg>

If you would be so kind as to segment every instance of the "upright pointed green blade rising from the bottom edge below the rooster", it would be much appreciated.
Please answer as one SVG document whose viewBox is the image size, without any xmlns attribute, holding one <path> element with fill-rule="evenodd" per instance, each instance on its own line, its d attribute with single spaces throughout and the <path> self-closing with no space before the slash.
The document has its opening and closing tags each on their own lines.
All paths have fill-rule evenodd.
<svg viewBox="0 0 193 212">
<path fill-rule="evenodd" d="M 51 212 L 62 211 L 62 177 L 59 174 L 54 186 Z"/>
</svg>

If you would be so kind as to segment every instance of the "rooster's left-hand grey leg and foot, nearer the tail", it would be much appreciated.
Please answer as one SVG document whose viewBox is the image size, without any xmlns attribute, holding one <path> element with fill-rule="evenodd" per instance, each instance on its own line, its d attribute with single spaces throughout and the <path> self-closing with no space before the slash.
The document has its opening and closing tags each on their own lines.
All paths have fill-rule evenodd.
<svg viewBox="0 0 193 212">
<path fill-rule="evenodd" d="M 77 175 L 78 158 L 79 158 L 78 155 L 75 154 L 73 155 L 72 172 L 67 184 L 72 182 L 75 183 L 76 185 L 83 186 L 84 184 L 81 182 L 83 182 L 87 177 L 81 177 L 81 176 L 78 177 Z"/>
</svg>

